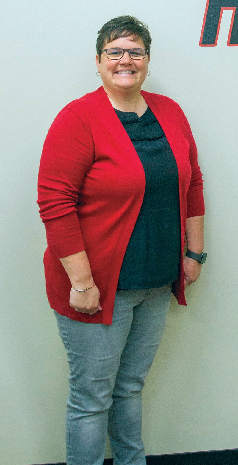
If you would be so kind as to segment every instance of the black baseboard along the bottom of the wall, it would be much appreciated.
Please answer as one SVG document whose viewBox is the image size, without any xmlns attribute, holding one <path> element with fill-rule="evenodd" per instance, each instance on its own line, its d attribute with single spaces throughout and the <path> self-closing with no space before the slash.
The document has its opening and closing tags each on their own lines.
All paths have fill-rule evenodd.
<svg viewBox="0 0 238 465">
<path fill-rule="evenodd" d="M 238 449 L 221 451 L 185 452 L 180 454 L 148 455 L 147 465 L 238 465 Z M 38 465 L 66 465 L 57 464 Z M 113 465 L 112 458 L 105 458 L 103 465 Z"/>
</svg>

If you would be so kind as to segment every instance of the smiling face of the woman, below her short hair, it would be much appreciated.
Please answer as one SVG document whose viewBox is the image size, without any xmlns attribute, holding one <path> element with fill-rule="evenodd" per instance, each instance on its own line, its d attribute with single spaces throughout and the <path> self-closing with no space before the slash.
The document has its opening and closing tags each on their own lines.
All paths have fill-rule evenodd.
<svg viewBox="0 0 238 465">
<path fill-rule="evenodd" d="M 112 40 L 104 44 L 104 48 L 145 48 L 145 45 L 141 39 L 134 41 L 133 36 L 119 37 L 118 39 Z M 98 71 L 101 75 L 103 86 L 105 90 L 140 90 L 143 84 L 146 74 L 148 72 L 148 63 L 150 56 L 145 54 L 145 58 L 142 60 L 132 60 L 129 53 L 125 52 L 120 60 L 110 60 L 106 56 L 106 52 L 103 52 L 100 57 L 96 55 L 96 64 Z M 131 71 L 131 73 L 122 73 L 125 71 Z"/>
</svg>

